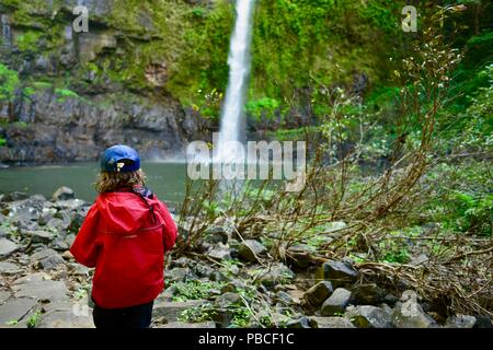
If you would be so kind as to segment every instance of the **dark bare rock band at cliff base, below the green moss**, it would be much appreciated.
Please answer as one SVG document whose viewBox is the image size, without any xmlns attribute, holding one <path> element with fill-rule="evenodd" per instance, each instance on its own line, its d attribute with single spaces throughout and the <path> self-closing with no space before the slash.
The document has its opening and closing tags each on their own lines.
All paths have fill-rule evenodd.
<svg viewBox="0 0 493 350">
<path fill-rule="evenodd" d="M 110 108 L 98 106 L 106 97 L 88 101 L 64 97 L 50 90 L 36 92 L 20 101 L 25 125 L 8 125 L 3 131 L 7 147 L 0 148 L 5 163 L 50 163 L 96 160 L 108 145 L 128 143 L 142 158 L 165 158 L 182 151 L 183 112 L 170 98 L 159 103 L 148 98 L 111 100 Z"/>
</svg>

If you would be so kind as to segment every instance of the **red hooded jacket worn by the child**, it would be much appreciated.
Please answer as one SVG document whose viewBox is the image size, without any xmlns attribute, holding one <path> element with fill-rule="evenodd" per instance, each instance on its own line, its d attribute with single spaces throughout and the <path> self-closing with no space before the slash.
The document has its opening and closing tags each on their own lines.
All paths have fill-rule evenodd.
<svg viewBox="0 0 493 350">
<path fill-rule="evenodd" d="M 149 303 L 163 290 L 176 225 L 156 196 L 146 199 L 154 215 L 137 194 L 101 194 L 70 248 L 77 261 L 95 267 L 92 298 L 103 308 Z"/>
</svg>

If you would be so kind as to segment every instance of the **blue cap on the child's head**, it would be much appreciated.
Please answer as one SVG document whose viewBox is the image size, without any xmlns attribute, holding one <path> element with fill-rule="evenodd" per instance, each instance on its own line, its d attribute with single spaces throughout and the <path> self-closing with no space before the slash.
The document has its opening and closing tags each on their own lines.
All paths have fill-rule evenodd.
<svg viewBox="0 0 493 350">
<path fill-rule="evenodd" d="M 116 144 L 101 155 L 101 170 L 110 173 L 129 173 L 140 168 L 139 153 L 133 148 Z"/>
</svg>

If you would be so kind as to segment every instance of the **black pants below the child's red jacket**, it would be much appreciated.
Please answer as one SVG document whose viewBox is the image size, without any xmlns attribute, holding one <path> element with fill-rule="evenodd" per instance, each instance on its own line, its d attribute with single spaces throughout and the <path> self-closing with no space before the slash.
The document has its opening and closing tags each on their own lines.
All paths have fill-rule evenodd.
<svg viewBox="0 0 493 350">
<path fill-rule="evenodd" d="M 96 328 L 149 328 L 153 303 L 124 308 L 102 308 L 94 304 L 92 318 Z"/>
</svg>

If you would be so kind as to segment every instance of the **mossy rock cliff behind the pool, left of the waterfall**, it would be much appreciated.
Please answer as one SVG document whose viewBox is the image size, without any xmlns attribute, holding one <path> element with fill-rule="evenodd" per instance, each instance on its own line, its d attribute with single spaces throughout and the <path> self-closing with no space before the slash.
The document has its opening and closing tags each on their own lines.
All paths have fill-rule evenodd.
<svg viewBox="0 0 493 350">
<path fill-rule="evenodd" d="M 73 30 L 78 4 L 89 10 L 88 33 Z M 118 142 L 167 158 L 196 136 L 193 113 L 167 90 L 165 13 L 145 5 L 125 23 L 134 7 L 0 1 L 0 62 L 19 80 L 0 100 L 0 162 L 94 160 Z"/>
</svg>

